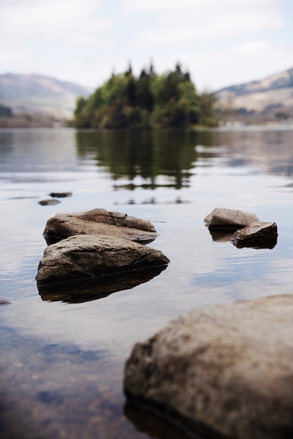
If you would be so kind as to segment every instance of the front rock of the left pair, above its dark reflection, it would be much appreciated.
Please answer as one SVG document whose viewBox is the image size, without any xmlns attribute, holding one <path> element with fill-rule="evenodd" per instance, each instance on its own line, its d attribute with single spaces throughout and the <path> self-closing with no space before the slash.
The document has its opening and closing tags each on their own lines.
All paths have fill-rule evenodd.
<svg viewBox="0 0 293 439">
<path fill-rule="evenodd" d="M 166 265 L 159 250 L 118 237 L 78 235 L 47 247 L 38 265 L 38 284 L 73 281 Z"/>
</svg>

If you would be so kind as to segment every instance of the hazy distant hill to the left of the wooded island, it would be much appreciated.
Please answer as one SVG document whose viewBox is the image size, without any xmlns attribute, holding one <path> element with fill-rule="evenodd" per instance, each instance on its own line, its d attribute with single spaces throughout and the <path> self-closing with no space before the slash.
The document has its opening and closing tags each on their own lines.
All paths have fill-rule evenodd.
<svg viewBox="0 0 293 439">
<path fill-rule="evenodd" d="M 44 75 L 0 75 L 0 104 L 17 112 L 71 118 L 78 96 L 88 97 L 91 88 Z"/>
</svg>

